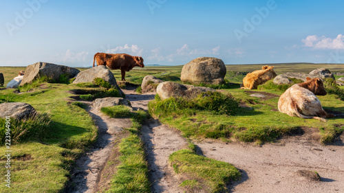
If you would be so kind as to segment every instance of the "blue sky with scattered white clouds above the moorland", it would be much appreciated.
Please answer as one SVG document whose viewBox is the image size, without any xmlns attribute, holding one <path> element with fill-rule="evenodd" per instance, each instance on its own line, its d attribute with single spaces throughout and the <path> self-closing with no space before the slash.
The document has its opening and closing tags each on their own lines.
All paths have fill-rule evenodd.
<svg viewBox="0 0 344 193">
<path fill-rule="evenodd" d="M 184 65 L 344 63 L 344 1 L 0 1 L 0 66 L 92 65 L 97 52 Z"/>
</svg>

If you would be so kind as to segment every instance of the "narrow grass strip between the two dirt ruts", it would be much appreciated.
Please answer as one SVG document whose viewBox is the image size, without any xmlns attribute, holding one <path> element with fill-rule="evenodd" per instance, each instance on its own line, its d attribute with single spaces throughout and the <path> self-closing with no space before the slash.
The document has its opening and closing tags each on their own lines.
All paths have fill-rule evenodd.
<svg viewBox="0 0 344 193">
<path fill-rule="evenodd" d="M 118 111 L 118 109 L 110 110 Z M 144 111 L 137 111 L 130 113 L 129 117 L 133 121 L 131 128 L 128 128 L 131 133 L 119 144 L 121 163 L 116 175 L 111 179 L 107 192 L 151 192 L 144 144 L 138 137 L 141 125 L 147 119 L 148 114 Z"/>
</svg>

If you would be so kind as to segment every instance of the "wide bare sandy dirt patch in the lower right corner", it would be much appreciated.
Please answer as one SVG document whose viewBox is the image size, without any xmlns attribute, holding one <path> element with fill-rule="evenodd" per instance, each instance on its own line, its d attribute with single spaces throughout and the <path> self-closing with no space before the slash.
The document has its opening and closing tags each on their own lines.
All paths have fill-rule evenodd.
<svg viewBox="0 0 344 193">
<path fill-rule="evenodd" d="M 241 181 L 230 185 L 232 192 L 344 192 L 343 143 L 322 146 L 310 140 L 311 135 L 264 146 L 212 141 L 197 146 L 206 157 L 232 163 L 241 170 Z M 321 181 L 301 177 L 299 170 L 316 171 Z"/>
</svg>

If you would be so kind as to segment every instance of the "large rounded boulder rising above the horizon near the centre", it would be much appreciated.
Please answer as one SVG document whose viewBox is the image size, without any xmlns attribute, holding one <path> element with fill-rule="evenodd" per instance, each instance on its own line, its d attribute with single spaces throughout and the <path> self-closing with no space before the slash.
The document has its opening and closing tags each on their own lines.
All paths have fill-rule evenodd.
<svg viewBox="0 0 344 193">
<path fill-rule="evenodd" d="M 192 84 L 223 84 L 226 66 L 219 58 L 201 57 L 184 65 L 180 80 Z"/>
</svg>

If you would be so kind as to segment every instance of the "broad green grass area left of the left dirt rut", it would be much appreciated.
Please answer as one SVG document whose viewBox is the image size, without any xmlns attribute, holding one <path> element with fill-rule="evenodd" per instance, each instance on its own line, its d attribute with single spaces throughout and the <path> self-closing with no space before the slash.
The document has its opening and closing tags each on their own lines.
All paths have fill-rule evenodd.
<svg viewBox="0 0 344 193">
<path fill-rule="evenodd" d="M 74 160 L 96 140 L 97 129 L 92 117 L 85 109 L 66 100 L 72 95 L 67 91 L 76 88 L 72 84 L 47 83 L 21 94 L 13 93 L 15 89 L 1 91 L 0 102 L 26 102 L 41 115 L 48 116 L 41 120 L 13 121 L 13 135 L 23 131 L 21 126 L 27 131 L 18 138 L 17 144 L 11 144 L 13 156 L 17 157 L 13 158 L 11 166 L 12 192 L 63 190 Z M 0 147 L 0 151 L 5 150 L 5 146 Z M 30 159 L 22 160 L 22 157 Z M 6 173 L 5 163 L 5 159 L 0 160 L 1 174 Z M 5 181 L 0 182 L 0 192 L 8 192 Z"/>
</svg>

